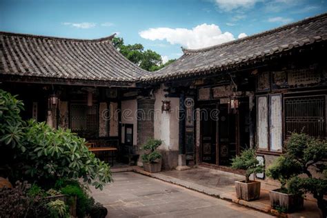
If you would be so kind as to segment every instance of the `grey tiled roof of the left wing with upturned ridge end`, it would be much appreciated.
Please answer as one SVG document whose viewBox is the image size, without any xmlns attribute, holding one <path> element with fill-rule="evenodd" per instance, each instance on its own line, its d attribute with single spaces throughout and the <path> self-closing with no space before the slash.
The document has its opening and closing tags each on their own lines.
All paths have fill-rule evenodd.
<svg viewBox="0 0 327 218">
<path fill-rule="evenodd" d="M 112 46 L 112 37 L 84 40 L 0 32 L 0 76 L 137 81 L 147 75 Z"/>
</svg>

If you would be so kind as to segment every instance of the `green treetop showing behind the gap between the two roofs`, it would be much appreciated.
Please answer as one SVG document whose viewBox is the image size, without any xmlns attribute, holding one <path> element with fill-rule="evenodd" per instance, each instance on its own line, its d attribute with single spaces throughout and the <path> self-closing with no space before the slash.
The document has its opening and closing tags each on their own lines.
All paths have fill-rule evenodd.
<svg viewBox="0 0 327 218">
<path fill-rule="evenodd" d="M 155 71 L 175 61 L 170 59 L 167 63 L 163 63 L 160 54 L 150 49 L 144 50 L 143 45 L 135 43 L 134 45 L 125 45 L 123 38 L 114 37 L 112 45 L 123 54 L 132 63 L 137 64 L 140 68 L 148 71 Z"/>
</svg>

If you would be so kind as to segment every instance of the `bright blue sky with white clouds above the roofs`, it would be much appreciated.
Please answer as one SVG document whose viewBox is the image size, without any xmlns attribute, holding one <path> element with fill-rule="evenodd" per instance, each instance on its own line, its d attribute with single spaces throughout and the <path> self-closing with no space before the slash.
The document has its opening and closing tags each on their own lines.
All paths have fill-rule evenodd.
<svg viewBox="0 0 327 218">
<path fill-rule="evenodd" d="M 0 0 L 0 31 L 96 39 L 117 32 L 164 59 L 327 11 L 315 0 Z"/>
</svg>

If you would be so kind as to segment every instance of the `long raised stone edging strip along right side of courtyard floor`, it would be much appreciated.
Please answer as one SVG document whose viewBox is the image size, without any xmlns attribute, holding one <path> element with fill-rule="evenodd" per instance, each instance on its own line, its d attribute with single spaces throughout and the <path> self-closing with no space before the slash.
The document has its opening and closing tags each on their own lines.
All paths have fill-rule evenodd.
<svg viewBox="0 0 327 218">
<path fill-rule="evenodd" d="M 254 210 L 258 210 L 261 212 L 266 212 L 270 215 L 275 215 L 278 217 L 319 217 L 319 214 L 317 211 L 317 208 L 315 208 L 315 202 L 311 201 L 308 202 L 307 200 L 305 204 L 308 204 L 310 206 L 310 208 L 315 208 L 313 210 L 310 211 L 300 211 L 292 214 L 286 214 L 286 213 L 279 213 L 277 210 L 271 208 L 270 204 L 267 204 L 267 202 L 262 202 L 261 199 L 257 200 L 257 201 L 244 201 L 241 199 L 237 199 L 236 197 L 236 193 L 235 192 L 222 192 L 220 190 L 216 190 L 214 188 L 208 188 L 206 186 L 201 186 L 199 184 L 195 184 L 192 183 L 190 181 L 185 181 L 182 179 L 177 179 L 175 177 L 170 177 L 167 175 L 163 175 L 161 173 L 150 173 L 150 172 L 146 172 L 143 170 L 143 168 L 139 167 L 139 166 L 130 166 L 130 167 L 126 167 L 126 168 L 115 168 L 112 169 L 112 172 L 137 172 L 141 175 L 146 175 L 148 177 L 152 177 L 155 179 L 159 179 L 161 181 L 166 181 L 169 182 L 170 184 L 175 184 L 177 186 L 182 186 L 184 188 L 188 188 L 190 190 L 195 190 L 197 192 L 201 192 L 205 195 L 209 195 L 211 197 L 217 197 L 219 199 L 223 199 L 226 201 L 230 201 L 232 203 L 235 204 L 239 204 L 241 206 L 246 206 L 248 208 L 252 208 Z M 230 173 L 230 172 L 227 172 Z M 267 198 L 267 196 L 269 191 L 265 190 L 265 189 L 261 189 L 261 196 L 265 196 L 265 198 Z M 304 216 L 301 216 L 301 214 L 304 212 Z"/>
</svg>

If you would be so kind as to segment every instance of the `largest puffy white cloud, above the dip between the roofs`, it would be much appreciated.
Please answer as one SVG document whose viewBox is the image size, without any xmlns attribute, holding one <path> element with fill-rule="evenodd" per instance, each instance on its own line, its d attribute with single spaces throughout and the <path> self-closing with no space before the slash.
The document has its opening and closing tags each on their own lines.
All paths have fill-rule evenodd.
<svg viewBox="0 0 327 218">
<path fill-rule="evenodd" d="M 144 39 L 165 40 L 170 44 L 180 44 L 186 48 L 205 48 L 234 40 L 230 32 L 221 32 L 219 26 L 203 23 L 192 29 L 186 28 L 150 28 L 139 32 Z"/>
</svg>

